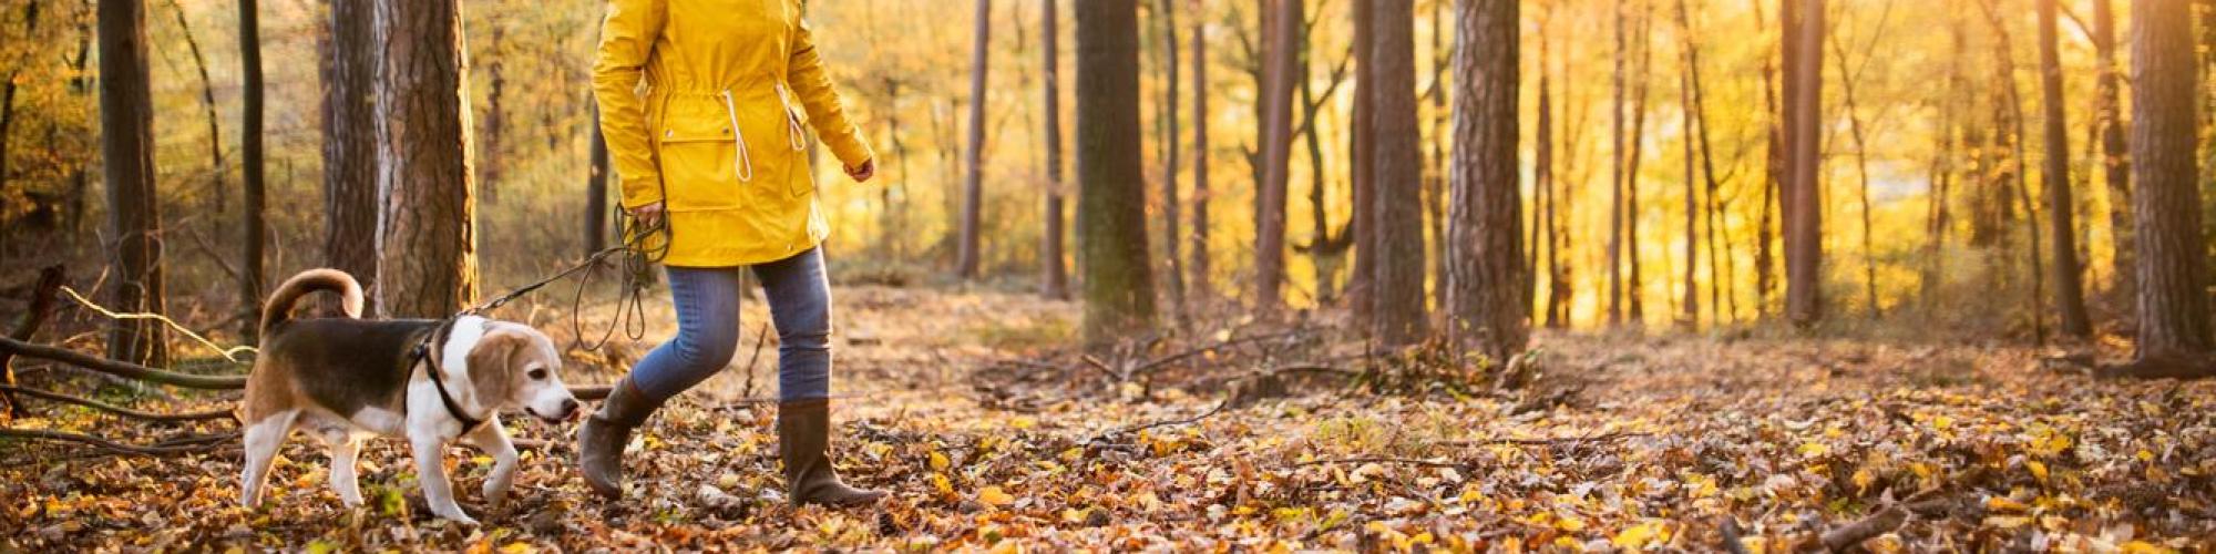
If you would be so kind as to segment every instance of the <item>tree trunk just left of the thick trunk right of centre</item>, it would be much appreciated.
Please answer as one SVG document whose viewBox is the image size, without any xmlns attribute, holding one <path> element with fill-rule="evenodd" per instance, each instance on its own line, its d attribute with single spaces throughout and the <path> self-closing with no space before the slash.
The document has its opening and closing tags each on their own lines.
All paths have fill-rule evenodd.
<svg viewBox="0 0 2216 554">
<path fill-rule="evenodd" d="M 1376 91 L 1369 93 L 1374 111 L 1369 115 L 1369 135 L 1376 140 L 1376 166 L 1369 173 L 1369 186 L 1376 193 L 1372 199 L 1372 208 L 1376 208 L 1372 222 L 1378 224 L 1378 257 L 1374 261 L 1376 273 L 1369 275 L 1369 301 L 1374 310 L 1369 330 L 1385 346 L 1407 346 L 1427 335 L 1423 281 L 1429 268 L 1423 264 L 1423 137 L 1414 133 L 1416 7 L 1412 0 L 1378 0 L 1372 11 L 1372 24 L 1376 27 L 1369 31 L 1369 55 L 1376 60 L 1376 71 L 1369 71 L 1369 78 L 1376 82 Z M 1467 18 L 1480 16 L 1471 13 Z M 1509 75 L 1514 80 L 1514 73 Z M 1458 124 L 1456 129 L 1463 126 Z M 1471 126 L 1471 133 L 1478 131 Z M 1509 233 L 1514 235 L 1514 228 Z M 1511 250 L 1487 255 L 1505 255 L 1507 259 L 1502 261 L 1522 264 L 1522 255 Z M 1460 301 L 1454 306 L 1460 306 Z M 1496 308 L 1516 310 L 1520 306 Z M 1454 315 L 1471 317 L 1474 312 L 1454 310 Z M 1471 332 L 1494 332 L 1487 321 L 1469 319 L 1460 324 L 1469 324 Z"/>
</svg>

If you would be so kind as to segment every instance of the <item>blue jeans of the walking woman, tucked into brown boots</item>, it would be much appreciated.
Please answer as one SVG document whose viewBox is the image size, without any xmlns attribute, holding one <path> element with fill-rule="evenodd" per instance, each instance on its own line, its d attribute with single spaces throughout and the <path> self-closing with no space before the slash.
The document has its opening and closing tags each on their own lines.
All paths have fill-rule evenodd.
<svg viewBox="0 0 2216 554">
<path fill-rule="evenodd" d="M 663 401 L 707 381 L 738 352 L 738 299 L 745 268 L 667 268 L 678 337 L 647 352 L 632 368 L 632 386 Z M 769 295 L 778 326 L 778 399 L 831 397 L 831 284 L 820 248 L 758 264 L 753 275 Z"/>
</svg>

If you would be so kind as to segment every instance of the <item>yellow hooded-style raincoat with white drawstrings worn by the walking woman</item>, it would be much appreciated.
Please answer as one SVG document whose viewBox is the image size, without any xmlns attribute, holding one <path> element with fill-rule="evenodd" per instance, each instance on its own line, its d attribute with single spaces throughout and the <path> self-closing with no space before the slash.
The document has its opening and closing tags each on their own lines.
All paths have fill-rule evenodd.
<svg viewBox="0 0 2216 554">
<path fill-rule="evenodd" d="M 815 55 L 802 0 L 612 0 L 592 89 L 623 206 L 665 202 L 667 266 L 778 261 L 831 233 L 807 124 L 871 162 Z"/>
</svg>

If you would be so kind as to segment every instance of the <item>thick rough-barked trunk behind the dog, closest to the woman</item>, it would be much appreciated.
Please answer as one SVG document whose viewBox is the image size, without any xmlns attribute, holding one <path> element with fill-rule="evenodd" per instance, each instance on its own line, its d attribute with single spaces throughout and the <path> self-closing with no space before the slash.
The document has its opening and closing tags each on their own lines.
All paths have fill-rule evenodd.
<svg viewBox="0 0 2216 554">
<path fill-rule="evenodd" d="M 375 13 L 379 304 L 394 317 L 448 317 L 479 293 L 461 4 L 386 0 Z"/>
</svg>

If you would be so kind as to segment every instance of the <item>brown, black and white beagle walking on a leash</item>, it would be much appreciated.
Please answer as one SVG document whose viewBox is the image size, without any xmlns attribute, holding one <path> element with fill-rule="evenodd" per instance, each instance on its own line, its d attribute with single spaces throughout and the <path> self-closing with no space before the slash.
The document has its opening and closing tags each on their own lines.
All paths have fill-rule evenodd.
<svg viewBox="0 0 2216 554">
<path fill-rule="evenodd" d="M 339 293 L 346 317 L 293 319 L 293 304 L 310 293 Z M 452 441 L 494 459 L 485 501 L 507 501 L 516 445 L 501 428 L 501 410 L 523 410 L 545 421 L 578 414 L 561 381 L 561 355 L 543 332 L 483 317 L 361 319 L 361 284 L 341 270 L 306 270 L 261 306 L 261 352 L 246 377 L 239 406 L 246 463 L 239 503 L 261 505 L 277 448 L 306 430 L 330 448 L 330 488 L 348 507 L 361 505 L 355 459 L 372 434 L 406 437 L 417 481 L 432 514 L 476 525 L 454 503 L 441 456 Z"/>
</svg>

